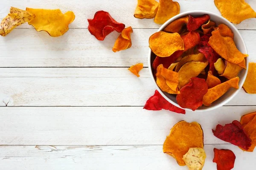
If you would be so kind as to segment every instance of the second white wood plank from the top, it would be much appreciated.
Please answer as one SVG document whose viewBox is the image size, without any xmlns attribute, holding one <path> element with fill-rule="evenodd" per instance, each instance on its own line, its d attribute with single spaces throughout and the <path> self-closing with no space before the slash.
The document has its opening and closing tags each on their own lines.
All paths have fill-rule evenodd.
<svg viewBox="0 0 256 170">
<path fill-rule="evenodd" d="M 70 29 L 64 36 L 52 38 L 45 32 L 15 29 L 0 37 L 0 67 L 130 67 L 138 62 L 148 66 L 148 37 L 157 29 L 134 29 L 132 46 L 114 53 L 118 33 L 98 41 L 87 29 Z M 240 31 L 250 55 L 256 62 L 256 30 Z"/>
</svg>

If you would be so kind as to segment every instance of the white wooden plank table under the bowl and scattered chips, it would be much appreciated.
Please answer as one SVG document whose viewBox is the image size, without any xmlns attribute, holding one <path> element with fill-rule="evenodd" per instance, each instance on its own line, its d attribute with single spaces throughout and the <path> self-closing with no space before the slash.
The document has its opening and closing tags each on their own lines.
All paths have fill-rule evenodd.
<svg viewBox="0 0 256 170">
<path fill-rule="evenodd" d="M 213 0 L 177 0 L 180 12 L 219 13 Z M 256 10 L 256 0 L 246 0 Z M 146 111 L 154 94 L 148 73 L 148 37 L 160 25 L 133 17 L 137 0 L 1 0 L 0 19 L 10 6 L 72 10 L 75 21 L 53 38 L 24 24 L 0 37 L 0 170 L 186 170 L 164 154 L 163 142 L 180 120 L 204 130 L 207 160 L 215 170 L 213 148 L 236 154 L 234 170 L 255 170 L 256 152 L 247 153 L 217 139 L 212 128 L 256 111 L 256 95 L 243 90 L 227 105 L 207 113 Z M 105 41 L 87 30 L 87 18 L 110 12 L 132 26 L 132 47 L 118 53 L 118 33 Z M 256 19 L 236 25 L 250 61 L 256 62 Z M 137 78 L 127 68 L 143 62 Z M 12 106 L 12 107 L 5 107 Z M 178 140 L 178 139 L 177 139 Z"/>
</svg>

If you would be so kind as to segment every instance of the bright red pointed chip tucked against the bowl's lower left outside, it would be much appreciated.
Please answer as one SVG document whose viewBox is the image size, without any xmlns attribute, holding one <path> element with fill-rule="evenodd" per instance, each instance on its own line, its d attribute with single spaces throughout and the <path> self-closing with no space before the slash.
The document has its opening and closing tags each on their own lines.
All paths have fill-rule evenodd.
<svg viewBox="0 0 256 170">
<path fill-rule="evenodd" d="M 154 96 L 151 96 L 143 109 L 149 110 L 149 111 L 160 111 L 162 109 L 176 112 L 176 113 L 182 113 L 185 114 L 186 111 L 184 109 L 178 108 L 175 105 L 172 105 L 169 103 L 161 94 L 156 90 L 154 93 Z"/>
</svg>

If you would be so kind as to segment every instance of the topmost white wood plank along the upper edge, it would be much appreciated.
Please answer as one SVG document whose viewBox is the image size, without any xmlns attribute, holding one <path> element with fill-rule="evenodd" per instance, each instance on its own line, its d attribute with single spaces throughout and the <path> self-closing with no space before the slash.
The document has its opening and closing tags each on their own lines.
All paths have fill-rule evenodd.
<svg viewBox="0 0 256 170">
<path fill-rule="evenodd" d="M 255 0 L 246 0 L 247 3 L 256 10 Z M 220 14 L 214 5 L 213 0 L 178 0 L 180 3 L 180 13 L 193 10 L 207 10 Z M 137 0 L 62 0 L 61 2 L 52 2 L 52 0 L 29 0 L 24 3 L 20 0 L 1 0 L 0 2 L 0 18 L 4 18 L 9 11 L 10 6 L 25 9 L 30 8 L 60 8 L 63 12 L 74 11 L 76 15 L 75 21 L 70 25 L 70 28 L 87 28 L 88 18 L 93 18 L 94 13 L 99 10 L 110 12 L 111 16 L 118 22 L 124 23 L 126 26 L 133 28 L 159 28 L 161 25 L 154 23 L 153 19 L 140 20 L 134 18 L 134 10 L 137 5 Z M 239 29 L 256 29 L 256 19 L 245 20 L 239 25 Z M 31 28 L 27 24 L 20 28 Z"/>
</svg>

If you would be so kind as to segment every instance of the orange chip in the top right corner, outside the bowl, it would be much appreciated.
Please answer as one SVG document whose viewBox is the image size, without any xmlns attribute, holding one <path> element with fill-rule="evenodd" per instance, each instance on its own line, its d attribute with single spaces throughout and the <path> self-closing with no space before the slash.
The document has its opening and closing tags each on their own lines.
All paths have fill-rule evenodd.
<svg viewBox="0 0 256 170">
<path fill-rule="evenodd" d="M 256 12 L 244 0 L 214 0 L 214 3 L 221 15 L 231 23 L 239 24 L 256 17 Z"/>
</svg>

